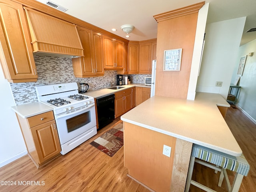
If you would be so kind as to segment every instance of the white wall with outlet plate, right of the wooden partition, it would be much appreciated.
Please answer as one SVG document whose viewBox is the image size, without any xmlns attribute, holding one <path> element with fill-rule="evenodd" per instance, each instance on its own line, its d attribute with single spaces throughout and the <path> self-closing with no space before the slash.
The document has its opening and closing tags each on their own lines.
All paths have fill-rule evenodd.
<svg viewBox="0 0 256 192">
<path fill-rule="evenodd" d="M 245 20 L 241 17 L 206 25 L 197 92 L 218 93 L 227 98 Z M 216 87 L 216 81 L 222 81 L 222 87 Z"/>
</svg>

